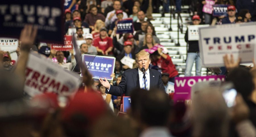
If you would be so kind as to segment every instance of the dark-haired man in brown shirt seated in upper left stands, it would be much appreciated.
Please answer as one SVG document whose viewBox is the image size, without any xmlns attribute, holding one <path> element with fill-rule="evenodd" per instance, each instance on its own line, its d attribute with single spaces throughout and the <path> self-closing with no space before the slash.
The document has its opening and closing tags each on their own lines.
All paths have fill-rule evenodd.
<svg viewBox="0 0 256 137">
<path fill-rule="evenodd" d="M 90 14 L 86 14 L 84 22 L 88 23 L 89 27 L 94 30 L 94 25 L 97 20 L 102 20 L 105 22 L 105 17 L 98 13 L 96 5 L 90 5 Z"/>
</svg>

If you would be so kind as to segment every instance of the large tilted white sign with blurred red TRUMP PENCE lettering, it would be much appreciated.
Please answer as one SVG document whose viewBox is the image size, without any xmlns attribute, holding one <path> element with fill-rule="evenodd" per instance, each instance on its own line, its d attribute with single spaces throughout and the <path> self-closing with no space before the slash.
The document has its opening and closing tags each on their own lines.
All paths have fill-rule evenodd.
<svg viewBox="0 0 256 137">
<path fill-rule="evenodd" d="M 31 97 L 45 92 L 71 95 L 81 83 L 79 76 L 33 52 L 29 55 L 25 74 L 24 91 Z"/>
</svg>

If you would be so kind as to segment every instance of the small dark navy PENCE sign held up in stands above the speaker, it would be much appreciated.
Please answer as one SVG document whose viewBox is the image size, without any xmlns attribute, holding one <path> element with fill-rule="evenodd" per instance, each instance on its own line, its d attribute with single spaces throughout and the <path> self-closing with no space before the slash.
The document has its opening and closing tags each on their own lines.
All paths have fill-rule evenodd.
<svg viewBox="0 0 256 137">
<path fill-rule="evenodd" d="M 116 33 L 133 33 L 133 18 L 127 18 L 118 21 Z"/>
</svg>

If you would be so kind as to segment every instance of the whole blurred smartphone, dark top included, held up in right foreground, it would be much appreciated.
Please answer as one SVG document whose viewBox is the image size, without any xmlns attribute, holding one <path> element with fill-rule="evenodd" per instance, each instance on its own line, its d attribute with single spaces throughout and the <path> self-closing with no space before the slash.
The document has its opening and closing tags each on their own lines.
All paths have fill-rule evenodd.
<svg viewBox="0 0 256 137">
<path fill-rule="evenodd" d="M 237 91 L 234 88 L 232 83 L 228 83 L 228 84 L 224 84 L 223 86 L 223 92 L 222 92 L 222 96 L 227 104 L 227 106 L 229 108 L 231 108 L 232 106 L 234 106 L 236 104 L 236 95 L 237 95 Z"/>
</svg>

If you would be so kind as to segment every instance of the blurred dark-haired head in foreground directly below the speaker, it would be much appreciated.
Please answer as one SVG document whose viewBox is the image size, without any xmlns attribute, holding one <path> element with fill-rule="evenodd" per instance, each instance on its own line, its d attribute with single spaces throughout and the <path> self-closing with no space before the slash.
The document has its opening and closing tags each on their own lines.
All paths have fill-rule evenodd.
<svg viewBox="0 0 256 137">
<path fill-rule="evenodd" d="M 163 91 L 137 89 L 131 94 L 132 115 L 142 127 L 166 126 L 170 100 Z"/>
</svg>

